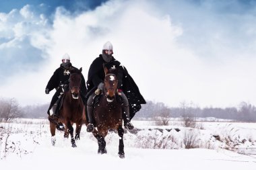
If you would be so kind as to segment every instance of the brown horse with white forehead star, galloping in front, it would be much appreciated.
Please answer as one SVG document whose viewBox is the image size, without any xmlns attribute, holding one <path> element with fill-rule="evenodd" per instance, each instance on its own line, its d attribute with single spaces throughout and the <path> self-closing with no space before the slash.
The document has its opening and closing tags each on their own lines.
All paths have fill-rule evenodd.
<svg viewBox="0 0 256 170">
<path fill-rule="evenodd" d="M 104 90 L 98 103 L 94 107 L 94 120 L 95 126 L 92 132 L 98 140 L 98 153 L 106 153 L 106 141 L 104 137 L 108 134 L 108 130 L 117 130 L 120 136 L 119 138 L 119 157 L 124 158 L 124 144 L 122 128 L 122 101 L 117 92 L 117 71 L 118 69 L 107 69 L 104 67 Z"/>
</svg>

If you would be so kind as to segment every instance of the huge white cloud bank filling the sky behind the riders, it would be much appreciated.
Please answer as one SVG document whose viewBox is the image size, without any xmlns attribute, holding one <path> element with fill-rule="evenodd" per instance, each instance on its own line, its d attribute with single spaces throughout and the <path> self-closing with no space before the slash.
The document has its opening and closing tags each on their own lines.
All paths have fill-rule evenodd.
<svg viewBox="0 0 256 170">
<path fill-rule="evenodd" d="M 92 60 L 100 54 L 104 42 L 110 40 L 115 58 L 127 67 L 146 99 L 164 101 L 170 106 L 178 106 L 183 100 L 216 107 L 234 106 L 241 101 L 256 104 L 254 48 L 246 53 L 232 48 L 230 40 L 226 40 L 232 34 L 221 31 L 228 28 L 228 25 L 222 28 L 222 22 L 217 23 L 220 30 L 215 27 L 214 32 L 201 32 L 206 37 L 188 35 L 188 32 L 193 34 L 192 28 L 185 27 L 190 26 L 186 25 L 188 21 L 181 17 L 177 22 L 179 17 L 173 19 L 172 13 L 162 10 L 168 9 L 168 4 L 163 5 L 152 1 L 108 1 L 79 15 L 59 7 L 52 27 L 42 14 L 33 14 L 32 25 L 15 22 L 12 25 L 15 35 L 28 35 L 30 44 L 44 52 L 45 62 L 40 63 L 36 73 L 11 77 L 1 86 L 0 93 L 17 97 L 22 104 L 49 102 L 53 92 L 45 95 L 44 87 L 59 67 L 61 56 L 67 52 L 72 64 L 83 67 L 87 77 Z M 23 10 L 30 13 L 32 9 Z M 0 15 L 0 19 L 6 17 Z M 205 22 L 202 20 L 201 24 Z M 200 31 L 194 30 L 194 34 L 199 35 Z M 213 34 L 208 35 L 209 32 Z M 188 46 L 187 42 L 194 44 Z M 234 59 L 230 60 L 232 56 Z M 25 90 L 14 93 L 12 89 Z"/>
</svg>

